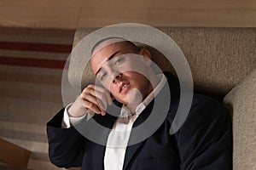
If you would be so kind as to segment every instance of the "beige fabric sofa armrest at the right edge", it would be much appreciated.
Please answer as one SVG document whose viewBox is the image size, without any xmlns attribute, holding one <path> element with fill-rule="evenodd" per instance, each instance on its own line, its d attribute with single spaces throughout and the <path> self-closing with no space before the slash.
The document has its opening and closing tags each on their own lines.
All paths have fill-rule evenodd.
<svg viewBox="0 0 256 170">
<path fill-rule="evenodd" d="M 234 170 L 256 169 L 256 70 L 224 97 L 233 112 Z"/>
</svg>

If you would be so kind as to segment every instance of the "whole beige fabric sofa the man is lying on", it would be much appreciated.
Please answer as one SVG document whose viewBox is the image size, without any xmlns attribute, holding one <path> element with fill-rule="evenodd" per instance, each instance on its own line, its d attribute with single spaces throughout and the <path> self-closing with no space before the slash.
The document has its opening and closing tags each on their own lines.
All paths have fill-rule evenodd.
<svg viewBox="0 0 256 170">
<path fill-rule="evenodd" d="M 188 59 L 195 90 L 224 101 L 233 119 L 233 168 L 256 169 L 256 29 L 160 27 Z M 78 29 L 73 44 L 95 28 Z M 157 54 L 154 54 L 157 55 Z M 162 59 L 155 61 L 172 71 Z M 71 62 L 71 82 L 79 78 Z M 93 81 L 86 67 L 82 86 Z M 224 100 L 223 100 L 224 99 Z"/>
</svg>

